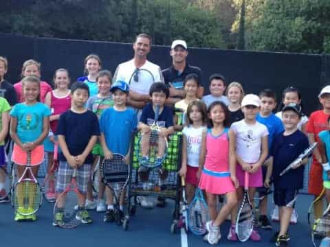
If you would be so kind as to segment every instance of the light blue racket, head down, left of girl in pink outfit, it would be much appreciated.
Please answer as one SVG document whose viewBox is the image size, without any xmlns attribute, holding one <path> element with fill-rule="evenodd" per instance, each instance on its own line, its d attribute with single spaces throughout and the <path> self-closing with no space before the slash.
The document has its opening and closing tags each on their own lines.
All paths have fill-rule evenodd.
<svg viewBox="0 0 330 247">
<path fill-rule="evenodd" d="M 188 207 L 188 227 L 195 235 L 206 233 L 206 222 L 209 220 L 208 204 L 206 204 L 201 189 L 197 188 L 195 197 Z"/>
</svg>

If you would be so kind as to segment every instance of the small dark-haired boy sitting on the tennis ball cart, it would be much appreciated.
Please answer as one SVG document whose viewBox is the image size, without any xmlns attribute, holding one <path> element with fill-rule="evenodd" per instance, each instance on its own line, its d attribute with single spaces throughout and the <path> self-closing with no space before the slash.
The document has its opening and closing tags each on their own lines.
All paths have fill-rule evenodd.
<svg viewBox="0 0 330 247">
<path fill-rule="evenodd" d="M 165 139 L 169 134 L 173 134 L 173 110 L 165 106 L 165 100 L 168 98 L 169 91 L 166 85 L 162 82 L 155 82 L 151 85 L 149 95 L 151 96 L 152 103 L 148 103 L 142 110 L 140 122 L 137 126 L 137 130 L 142 132 L 141 139 L 141 153 L 139 172 L 148 172 L 148 168 L 144 164 L 149 162 L 148 149 L 149 149 L 149 136 L 151 134 L 151 125 L 155 121 L 155 109 L 159 106 L 159 116 L 157 124 L 160 126 L 159 141 L 158 141 L 158 154 L 155 159 L 155 167 L 159 169 L 159 173 L 162 174 L 160 165 L 162 164 L 162 155 L 165 151 Z"/>
</svg>

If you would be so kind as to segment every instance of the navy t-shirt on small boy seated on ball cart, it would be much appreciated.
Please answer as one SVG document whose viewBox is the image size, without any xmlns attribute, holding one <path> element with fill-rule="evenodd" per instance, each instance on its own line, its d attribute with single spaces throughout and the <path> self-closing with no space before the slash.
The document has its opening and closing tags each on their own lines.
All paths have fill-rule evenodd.
<svg viewBox="0 0 330 247">
<path fill-rule="evenodd" d="M 155 112 L 153 111 L 153 104 L 148 103 L 144 106 L 142 110 L 142 115 L 140 117 L 140 122 L 151 126 L 155 119 Z M 157 124 L 160 127 L 169 128 L 173 126 L 173 110 L 164 106 L 162 113 L 159 114 Z"/>
</svg>

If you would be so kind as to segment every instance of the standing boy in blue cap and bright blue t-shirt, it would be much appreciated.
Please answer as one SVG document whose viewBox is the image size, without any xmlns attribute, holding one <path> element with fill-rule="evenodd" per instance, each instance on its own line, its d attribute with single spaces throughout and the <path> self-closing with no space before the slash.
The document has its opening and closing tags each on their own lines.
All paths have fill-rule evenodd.
<svg viewBox="0 0 330 247">
<path fill-rule="evenodd" d="M 113 153 L 122 154 L 129 161 L 129 144 L 131 134 L 137 125 L 137 116 L 132 108 L 126 107 L 127 97 L 129 95 L 129 85 L 126 82 L 118 80 L 110 89 L 113 94 L 115 105 L 103 111 L 100 118 L 100 143 L 104 152 L 105 159 L 111 159 Z M 100 163 L 102 163 L 102 156 Z M 104 222 L 113 222 L 115 220 L 113 195 L 108 187 L 106 189 L 107 211 L 104 215 Z M 125 194 L 124 192 L 122 194 Z M 124 217 L 123 206 L 124 196 L 120 196 L 120 215 Z"/>
</svg>

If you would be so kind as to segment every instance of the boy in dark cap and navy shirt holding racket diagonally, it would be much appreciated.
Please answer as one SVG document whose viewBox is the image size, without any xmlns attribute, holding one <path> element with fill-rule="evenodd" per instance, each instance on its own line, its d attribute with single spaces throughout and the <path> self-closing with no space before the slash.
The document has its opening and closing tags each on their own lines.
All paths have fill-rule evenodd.
<svg viewBox="0 0 330 247">
<path fill-rule="evenodd" d="M 272 162 L 267 167 L 265 187 L 270 187 L 270 177 L 272 176 L 274 180 L 274 203 L 280 210 L 281 228 L 271 239 L 271 242 L 276 242 L 276 246 L 288 245 L 287 230 L 292 210 L 298 189 L 303 188 L 303 165 L 307 164 L 308 158 L 300 161 L 296 167 L 280 176 L 281 172 L 309 147 L 306 135 L 297 128 L 301 116 L 301 108 L 297 104 L 291 103 L 283 108 L 282 119 L 285 131 L 274 137 L 270 152 Z"/>
</svg>

